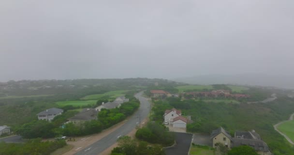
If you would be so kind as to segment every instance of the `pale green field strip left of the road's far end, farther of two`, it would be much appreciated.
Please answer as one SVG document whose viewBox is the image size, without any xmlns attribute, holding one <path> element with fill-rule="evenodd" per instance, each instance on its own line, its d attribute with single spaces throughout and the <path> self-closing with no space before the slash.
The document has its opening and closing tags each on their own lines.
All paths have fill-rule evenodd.
<svg viewBox="0 0 294 155">
<path fill-rule="evenodd" d="M 82 100 L 99 100 L 103 97 L 115 99 L 119 96 L 124 96 L 125 93 L 126 93 L 126 90 L 124 90 L 124 91 L 111 91 L 111 92 L 106 92 L 106 93 L 102 93 L 102 94 L 88 95 L 88 96 L 85 96 L 81 99 Z"/>
</svg>

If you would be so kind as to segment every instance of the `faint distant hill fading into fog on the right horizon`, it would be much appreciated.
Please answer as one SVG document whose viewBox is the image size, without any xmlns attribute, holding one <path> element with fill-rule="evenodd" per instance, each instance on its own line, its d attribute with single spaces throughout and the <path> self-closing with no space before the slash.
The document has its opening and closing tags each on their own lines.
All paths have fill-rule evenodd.
<svg viewBox="0 0 294 155">
<path fill-rule="evenodd" d="M 190 78 L 174 78 L 177 82 L 189 84 L 238 84 L 250 86 L 270 86 L 294 89 L 294 76 L 239 74 L 239 75 L 203 75 Z"/>
</svg>

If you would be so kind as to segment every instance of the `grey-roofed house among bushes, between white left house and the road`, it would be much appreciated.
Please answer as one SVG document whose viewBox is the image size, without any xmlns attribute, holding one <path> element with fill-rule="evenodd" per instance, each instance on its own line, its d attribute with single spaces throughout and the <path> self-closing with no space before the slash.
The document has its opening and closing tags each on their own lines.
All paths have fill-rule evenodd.
<svg viewBox="0 0 294 155">
<path fill-rule="evenodd" d="M 68 123 L 81 124 L 90 120 L 97 120 L 98 111 L 96 109 L 83 109 L 80 113 L 69 118 Z"/>
</svg>

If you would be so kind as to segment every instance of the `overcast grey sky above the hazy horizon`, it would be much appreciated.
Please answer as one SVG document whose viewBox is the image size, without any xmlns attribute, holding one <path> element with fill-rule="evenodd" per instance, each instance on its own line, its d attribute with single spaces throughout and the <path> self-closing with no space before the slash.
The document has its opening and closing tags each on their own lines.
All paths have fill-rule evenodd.
<svg viewBox="0 0 294 155">
<path fill-rule="evenodd" d="M 293 75 L 294 0 L 1 0 L 0 81 Z"/>
</svg>

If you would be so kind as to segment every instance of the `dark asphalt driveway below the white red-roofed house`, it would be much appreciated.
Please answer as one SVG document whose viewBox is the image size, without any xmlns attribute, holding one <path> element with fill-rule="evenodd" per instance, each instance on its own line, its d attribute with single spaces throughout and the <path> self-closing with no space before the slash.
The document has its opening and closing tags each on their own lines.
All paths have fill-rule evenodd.
<svg viewBox="0 0 294 155">
<path fill-rule="evenodd" d="M 190 146 L 191 146 L 192 134 L 175 132 L 175 136 L 176 136 L 176 145 L 170 148 L 166 148 L 165 154 L 166 155 L 188 155 Z"/>
</svg>

